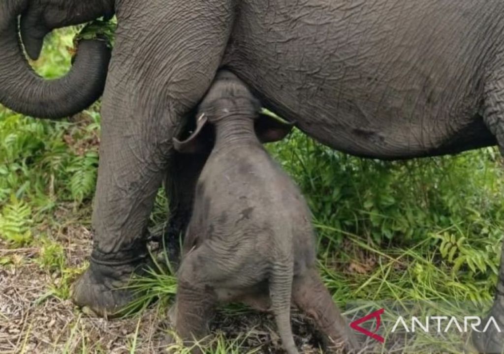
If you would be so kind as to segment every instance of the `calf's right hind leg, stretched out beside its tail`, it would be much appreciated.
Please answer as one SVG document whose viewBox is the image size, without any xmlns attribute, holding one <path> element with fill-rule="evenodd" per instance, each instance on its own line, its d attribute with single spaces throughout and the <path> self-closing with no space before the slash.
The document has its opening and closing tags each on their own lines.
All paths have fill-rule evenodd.
<svg viewBox="0 0 504 354">
<path fill-rule="evenodd" d="M 338 311 L 317 269 L 310 268 L 302 275 L 294 276 L 292 300 L 324 334 L 328 349 L 338 351 L 344 347 L 347 352 L 357 351 L 357 338 Z"/>
</svg>

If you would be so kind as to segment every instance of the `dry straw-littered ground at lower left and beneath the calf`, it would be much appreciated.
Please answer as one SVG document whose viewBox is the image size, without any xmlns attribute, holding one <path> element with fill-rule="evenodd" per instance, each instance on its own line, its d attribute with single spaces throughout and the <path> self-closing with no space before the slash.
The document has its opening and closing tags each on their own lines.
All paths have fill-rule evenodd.
<svg viewBox="0 0 504 354">
<path fill-rule="evenodd" d="M 66 228 L 58 234 L 57 242 L 65 248 L 69 267 L 85 266 L 91 247 L 88 229 L 82 226 Z M 51 286 L 62 286 L 61 274 L 43 270 L 35 261 L 38 252 L 38 248 L 10 249 L 0 241 L 0 259 L 11 259 L 9 264 L 0 265 L 0 354 L 122 354 L 163 350 L 167 324 L 155 304 L 126 319 L 107 321 L 88 316 L 70 300 L 52 295 Z M 229 340 L 240 337 L 240 353 L 253 348 L 258 353 L 283 352 L 271 315 L 254 312 L 228 315 L 229 311 L 224 312 L 218 313 L 212 330 Z M 301 352 L 320 352 L 317 349 L 319 338 L 306 319 L 294 312 L 292 323 Z"/>
</svg>

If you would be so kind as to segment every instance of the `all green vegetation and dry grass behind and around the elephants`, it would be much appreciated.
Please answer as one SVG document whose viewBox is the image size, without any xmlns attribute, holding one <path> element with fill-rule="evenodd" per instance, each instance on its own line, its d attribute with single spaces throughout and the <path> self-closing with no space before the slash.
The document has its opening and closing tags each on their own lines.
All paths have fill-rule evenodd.
<svg viewBox="0 0 504 354">
<path fill-rule="evenodd" d="M 67 72 L 74 34 L 57 31 L 46 40 L 33 63 L 40 75 Z M 68 301 L 72 280 L 87 265 L 99 131 L 99 103 L 58 122 L 0 107 L 0 352 L 149 352 L 140 324 L 151 323 L 146 314 L 164 313 L 173 300 L 175 278 L 165 271 L 134 285 L 148 290 L 136 304 L 145 309 L 122 329 L 86 322 L 87 315 Z M 332 151 L 299 131 L 268 149 L 309 202 L 320 270 L 340 307 L 360 299 L 427 300 L 462 315 L 466 305 L 460 304 L 488 309 L 504 229 L 503 166 L 496 149 L 383 162 Z M 166 210 L 160 190 L 153 228 L 166 221 Z M 163 301 L 148 306 L 158 296 Z M 66 319 L 58 320 L 54 311 Z M 223 311 L 224 317 L 250 316 L 240 307 Z M 217 331 L 218 345 L 209 352 L 274 352 L 273 332 L 236 326 L 228 323 L 234 330 L 227 334 Z M 40 334 L 54 330 L 59 336 Z M 296 339 L 305 352 L 317 352 L 303 333 Z M 437 345 L 453 351 L 446 340 Z"/>
</svg>

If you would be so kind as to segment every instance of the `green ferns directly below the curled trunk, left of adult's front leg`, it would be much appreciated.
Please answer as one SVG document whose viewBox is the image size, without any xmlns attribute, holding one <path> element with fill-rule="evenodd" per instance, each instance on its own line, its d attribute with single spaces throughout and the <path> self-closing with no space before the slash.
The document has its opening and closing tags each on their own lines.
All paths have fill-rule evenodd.
<svg viewBox="0 0 504 354">
<path fill-rule="evenodd" d="M 15 195 L 30 204 L 36 223 L 56 200 L 80 203 L 92 197 L 97 146 L 80 152 L 69 143 L 79 144 L 95 134 L 79 124 L 34 120 L 1 110 L 0 211 Z"/>
</svg>

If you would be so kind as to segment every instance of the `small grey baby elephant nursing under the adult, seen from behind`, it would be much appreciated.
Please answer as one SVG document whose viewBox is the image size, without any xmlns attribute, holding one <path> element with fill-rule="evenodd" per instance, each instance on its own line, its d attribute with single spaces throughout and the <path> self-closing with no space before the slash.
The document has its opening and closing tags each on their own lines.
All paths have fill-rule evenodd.
<svg viewBox="0 0 504 354">
<path fill-rule="evenodd" d="M 199 107 L 194 133 L 174 140 L 181 153 L 214 144 L 184 240 L 175 328 L 185 340 L 201 339 L 217 303 L 243 302 L 273 311 L 283 346 L 294 354 L 292 300 L 332 345 L 352 351 L 357 341 L 316 268 L 308 207 L 261 144 L 283 138 L 291 126 L 259 112 L 247 87 L 223 70 Z"/>
</svg>

